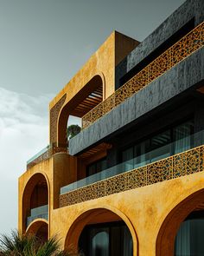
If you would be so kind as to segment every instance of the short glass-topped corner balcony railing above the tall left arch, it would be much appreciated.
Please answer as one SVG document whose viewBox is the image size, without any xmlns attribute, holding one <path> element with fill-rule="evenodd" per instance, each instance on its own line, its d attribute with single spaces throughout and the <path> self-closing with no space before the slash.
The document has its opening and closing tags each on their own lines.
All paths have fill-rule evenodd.
<svg viewBox="0 0 204 256">
<path fill-rule="evenodd" d="M 29 169 L 30 167 L 34 167 L 41 161 L 49 159 L 53 154 L 67 151 L 67 148 L 51 147 L 48 145 L 46 148 L 41 149 L 39 153 L 35 154 L 32 158 L 30 158 L 29 161 L 27 161 L 27 169 Z"/>
</svg>

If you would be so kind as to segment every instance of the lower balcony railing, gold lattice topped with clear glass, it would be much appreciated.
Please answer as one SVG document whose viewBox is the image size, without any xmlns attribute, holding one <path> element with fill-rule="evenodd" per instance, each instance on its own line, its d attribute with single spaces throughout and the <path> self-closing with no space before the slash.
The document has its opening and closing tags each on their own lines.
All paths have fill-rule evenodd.
<svg viewBox="0 0 204 256">
<path fill-rule="evenodd" d="M 204 132 L 201 131 L 61 187 L 61 207 L 203 170 Z"/>
</svg>

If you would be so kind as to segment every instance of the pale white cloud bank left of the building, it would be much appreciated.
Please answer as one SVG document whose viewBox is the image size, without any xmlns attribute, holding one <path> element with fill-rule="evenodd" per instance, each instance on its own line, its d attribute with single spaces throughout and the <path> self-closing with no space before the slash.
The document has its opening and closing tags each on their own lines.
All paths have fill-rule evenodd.
<svg viewBox="0 0 204 256">
<path fill-rule="evenodd" d="M 0 233 L 17 227 L 17 179 L 26 161 L 48 145 L 48 102 L 0 88 Z"/>
</svg>

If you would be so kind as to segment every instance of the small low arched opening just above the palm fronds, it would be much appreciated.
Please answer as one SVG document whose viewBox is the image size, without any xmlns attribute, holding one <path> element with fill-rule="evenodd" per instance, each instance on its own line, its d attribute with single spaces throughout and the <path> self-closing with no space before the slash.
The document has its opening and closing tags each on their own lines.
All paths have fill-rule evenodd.
<svg viewBox="0 0 204 256">
<path fill-rule="evenodd" d="M 46 220 L 35 220 L 28 226 L 27 232 L 34 234 L 42 242 L 48 240 L 48 222 Z"/>
</svg>

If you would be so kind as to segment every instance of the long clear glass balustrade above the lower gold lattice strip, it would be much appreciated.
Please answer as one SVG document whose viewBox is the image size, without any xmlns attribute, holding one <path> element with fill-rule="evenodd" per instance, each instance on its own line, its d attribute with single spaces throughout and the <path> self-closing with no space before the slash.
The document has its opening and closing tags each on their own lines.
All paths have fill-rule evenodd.
<svg viewBox="0 0 204 256">
<path fill-rule="evenodd" d="M 143 167 L 155 161 L 162 160 L 174 154 L 179 154 L 188 149 L 199 147 L 204 144 L 204 131 L 189 135 L 180 140 L 169 143 L 161 148 L 156 148 L 146 154 L 124 161 L 116 166 L 105 169 L 98 174 L 92 174 L 80 181 L 75 181 L 65 187 L 61 187 L 61 194 L 73 191 L 74 189 L 85 187 L 97 181 L 102 181 L 112 176 L 123 174 L 124 172 Z"/>
</svg>

